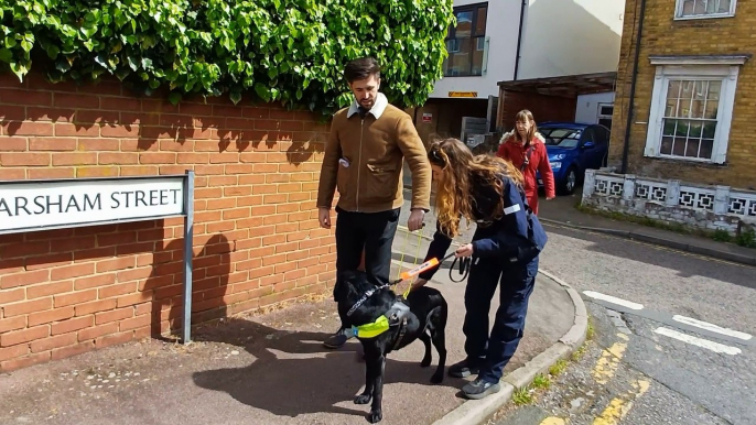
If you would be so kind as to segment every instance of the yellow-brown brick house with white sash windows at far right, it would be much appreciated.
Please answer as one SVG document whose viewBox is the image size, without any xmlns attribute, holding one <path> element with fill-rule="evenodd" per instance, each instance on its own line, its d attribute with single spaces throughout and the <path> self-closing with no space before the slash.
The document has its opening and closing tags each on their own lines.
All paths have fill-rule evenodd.
<svg viewBox="0 0 756 425">
<path fill-rule="evenodd" d="M 756 187 L 754 17 L 744 0 L 627 1 L 609 165 Z"/>
</svg>

